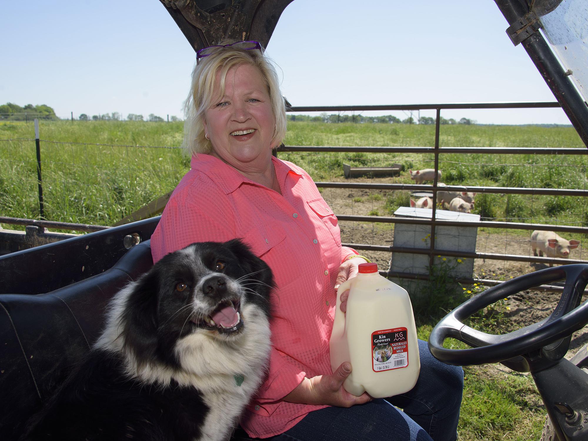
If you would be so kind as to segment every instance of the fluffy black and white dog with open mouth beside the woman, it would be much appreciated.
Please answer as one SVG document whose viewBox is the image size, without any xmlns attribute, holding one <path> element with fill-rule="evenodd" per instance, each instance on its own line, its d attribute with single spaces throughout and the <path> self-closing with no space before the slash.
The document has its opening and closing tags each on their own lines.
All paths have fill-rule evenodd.
<svg viewBox="0 0 588 441">
<path fill-rule="evenodd" d="M 238 239 L 166 255 L 115 295 L 102 336 L 22 439 L 229 439 L 266 370 L 273 286 Z"/>
</svg>

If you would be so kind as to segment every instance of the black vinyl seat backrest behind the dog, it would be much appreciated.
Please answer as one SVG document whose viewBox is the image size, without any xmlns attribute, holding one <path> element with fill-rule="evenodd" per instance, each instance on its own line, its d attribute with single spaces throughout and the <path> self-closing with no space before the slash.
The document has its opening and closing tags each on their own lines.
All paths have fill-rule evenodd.
<svg viewBox="0 0 588 441">
<path fill-rule="evenodd" d="M 152 265 L 146 240 L 91 278 L 44 294 L 0 295 L 2 439 L 18 439 L 29 417 L 98 338 L 112 296 Z"/>
</svg>

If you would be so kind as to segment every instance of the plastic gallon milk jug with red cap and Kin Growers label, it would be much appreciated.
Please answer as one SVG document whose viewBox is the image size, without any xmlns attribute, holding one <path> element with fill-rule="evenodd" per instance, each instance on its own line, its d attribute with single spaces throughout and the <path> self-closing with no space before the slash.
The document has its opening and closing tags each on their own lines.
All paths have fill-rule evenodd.
<svg viewBox="0 0 588 441">
<path fill-rule="evenodd" d="M 349 289 L 347 312 L 341 294 Z M 377 272 L 376 263 L 360 263 L 358 276 L 337 290 L 330 338 L 333 372 L 350 362 L 343 388 L 353 395 L 367 391 L 385 398 L 412 389 L 420 372 L 415 316 L 408 293 Z"/>
</svg>

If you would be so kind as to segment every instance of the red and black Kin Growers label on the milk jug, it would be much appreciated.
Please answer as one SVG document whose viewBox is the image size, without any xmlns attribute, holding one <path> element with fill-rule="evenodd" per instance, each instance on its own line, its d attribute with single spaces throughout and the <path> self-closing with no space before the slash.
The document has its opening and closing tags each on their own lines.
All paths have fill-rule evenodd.
<svg viewBox="0 0 588 441">
<path fill-rule="evenodd" d="M 406 328 L 383 329 L 372 333 L 372 369 L 374 372 L 408 366 Z"/>
</svg>

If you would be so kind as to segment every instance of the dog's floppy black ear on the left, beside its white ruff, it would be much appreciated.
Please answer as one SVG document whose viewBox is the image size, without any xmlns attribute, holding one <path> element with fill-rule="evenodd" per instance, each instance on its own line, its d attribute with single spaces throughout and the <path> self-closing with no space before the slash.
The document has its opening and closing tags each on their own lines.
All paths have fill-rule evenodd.
<svg viewBox="0 0 588 441">
<path fill-rule="evenodd" d="M 157 348 L 159 266 L 137 280 L 122 315 L 125 348 L 137 362 L 152 359 Z"/>
</svg>

